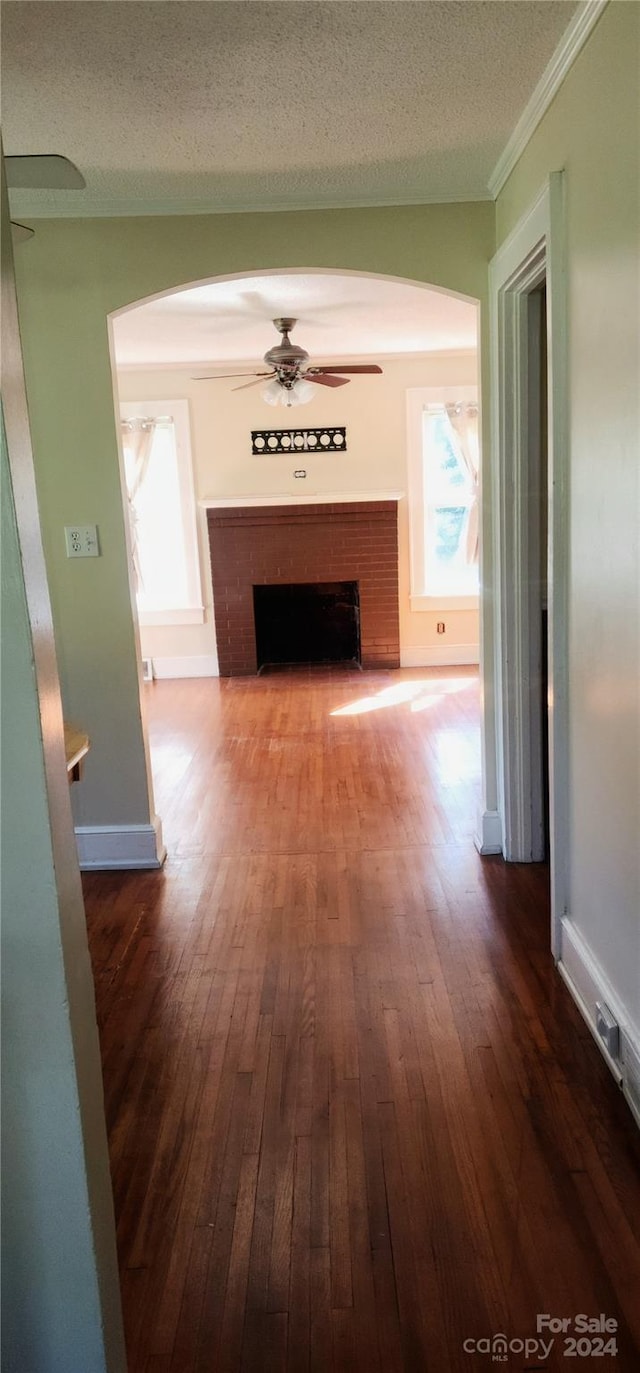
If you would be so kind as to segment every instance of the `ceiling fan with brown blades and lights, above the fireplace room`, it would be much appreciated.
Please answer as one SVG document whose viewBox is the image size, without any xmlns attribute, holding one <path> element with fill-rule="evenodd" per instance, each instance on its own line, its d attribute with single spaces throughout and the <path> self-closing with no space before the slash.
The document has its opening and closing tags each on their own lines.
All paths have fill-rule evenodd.
<svg viewBox="0 0 640 1373">
<path fill-rule="evenodd" d="M 244 382 L 243 386 L 233 386 L 233 391 L 246 391 L 249 386 L 260 386 L 266 382 L 262 398 L 269 405 L 304 405 L 313 397 L 316 386 L 346 386 L 349 375 L 382 372 L 376 362 L 332 362 L 327 367 L 309 367 L 309 353 L 297 343 L 291 343 L 290 332 L 297 320 L 273 320 L 277 332 L 282 335 L 280 343 L 265 353 L 268 372 L 227 372 L 220 376 L 195 376 L 195 382 L 229 380 L 236 376 L 251 376 L 254 380 Z"/>
</svg>

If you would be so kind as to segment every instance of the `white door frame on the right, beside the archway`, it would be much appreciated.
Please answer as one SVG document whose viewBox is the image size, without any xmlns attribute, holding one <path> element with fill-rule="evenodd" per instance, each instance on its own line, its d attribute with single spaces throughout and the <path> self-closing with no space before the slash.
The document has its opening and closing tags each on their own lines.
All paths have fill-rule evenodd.
<svg viewBox="0 0 640 1373">
<path fill-rule="evenodd" d="M 538 357 L 532 350 L 527 297 L 547 283 L 548 386 L 548 713 L 551 946 L 560 957 L 569 908 L 567 586 L 569 501 L 566 423 L 566 305 L 563 173 L 551 174 L 489 269 L 492 358 L 492 527 L 496 673 L 496 768 L 501 850 L 508 861 L 540 857 L 541 722 L 532 695 L 532 541 L 527 500 L 529 393 Z M 534 663 L 533 663 L 534 666 Z"/>
</svg>

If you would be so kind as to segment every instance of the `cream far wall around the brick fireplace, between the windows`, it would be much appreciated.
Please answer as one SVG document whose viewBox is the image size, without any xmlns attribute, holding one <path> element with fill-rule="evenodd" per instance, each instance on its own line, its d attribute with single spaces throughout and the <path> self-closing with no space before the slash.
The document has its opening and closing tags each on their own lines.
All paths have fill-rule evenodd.
<svg viewBox="0 0 640 1373">
<path fill-rule="evenodd" d="M 196 500 L 295 494 L 313 500 L 323 492 L 402 490 L 398 508 L 400 645 L 409 666 L 457 662 L 468 645 L 478 645 L 478 610 L 428 611 L 409 605 L 409 512 L 407 474 L 407 390 L 409 387 L 477 386 L 477 354 L 428 354 L 411 360 L 380 360 L 382 376 L 357 378 L 339 391 L 317 387 L 317 395 L 297 409 L 272 408 L 260 387 L 233 391 L 239 382 L 194 382 L 188 371 L 118 372 L 122 401 L 187 400 L 191 412 Z M 196 373 L 196 368 L 194 372 Z M 233 371 L 250 371 L 240 365 Z M 305 457 L 251 454 L 250 431 L 298 424 L 346 424 L 347 452 Z M 294 470 L 306 478 L 295 479 Z M 143 627 L 143 654 L 161 660 L 216 655 L 212 577 L 205 512 L 199 511 L 199 552 L 206 601 L 206 623 Z M 437 622 L 445 622 L 445 634 Z"/>
</svg>

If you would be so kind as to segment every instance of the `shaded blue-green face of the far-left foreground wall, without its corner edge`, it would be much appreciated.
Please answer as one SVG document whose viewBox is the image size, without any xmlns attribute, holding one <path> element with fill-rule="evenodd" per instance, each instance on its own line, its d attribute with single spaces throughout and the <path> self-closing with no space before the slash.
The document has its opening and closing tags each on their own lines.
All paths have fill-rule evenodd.
<svg viewBox="0 0 640 1373">
<path fill-rule="evenodd" d="M 33 648 L 4 427 L 0 449 L 3 1369 L 106 1373 Z M 87 976 L 91 986 L 88 967 Z M 95 1038 L 95 1019 L 89 1028 Z M 95 1068 L 99 1090 L 98 1056 Z M 122 1370 L 124 1359 L 111 1366 Z"/>
</svg>

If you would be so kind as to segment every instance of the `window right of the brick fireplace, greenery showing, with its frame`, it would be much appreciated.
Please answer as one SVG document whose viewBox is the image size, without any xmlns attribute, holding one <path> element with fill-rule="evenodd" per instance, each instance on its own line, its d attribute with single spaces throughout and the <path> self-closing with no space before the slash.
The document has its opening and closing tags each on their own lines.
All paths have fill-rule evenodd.
<svg viewBox="0 0 640 1373">
<path fill-rule="evenodd" d="M 408 393 L 411 603 L 478 603 L 478 404 L 472 389 Z"/>
</svg>

